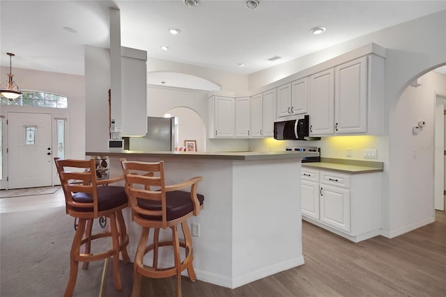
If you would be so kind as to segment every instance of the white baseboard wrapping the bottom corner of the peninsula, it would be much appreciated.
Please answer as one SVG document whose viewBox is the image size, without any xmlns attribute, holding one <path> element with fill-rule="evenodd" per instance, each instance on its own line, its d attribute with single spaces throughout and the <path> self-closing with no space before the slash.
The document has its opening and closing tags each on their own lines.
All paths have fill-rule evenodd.
<svg viewBox="0 0 446 297">
<path fill-rule="evenodd" d="M 261 278 L 266 278 L 269 275 L 273 275 L 281 271 L 286 271 L 290 268 L 300 266 L 304 263 L 305 263 L 304 257 L 300 256 L 295 259 L 291 259 L 285 262 L 280 262 L 268 267 L 258 269 L 256 271 L 252 271 L 250 273 L 246 273 L 245 275 L 241 275 L 238 278 L 233 278 L 233 279 L 227 278 L 224 275 L 209 273 L 207 271 L 201 271 L 198 269 L 194 270 L 198 280 L 201 280 L 203 282 L 209 282 L 211 284 L 217 284 L 218 286 L 221 287 L 235 289 L 237 287 L 243 286 L 244 284 L 249 284 L 249 282 L 254 282 L 254 280 L 260 280 Z M 187 271 L 183 272 L 187 273 Z"/>
</svg>

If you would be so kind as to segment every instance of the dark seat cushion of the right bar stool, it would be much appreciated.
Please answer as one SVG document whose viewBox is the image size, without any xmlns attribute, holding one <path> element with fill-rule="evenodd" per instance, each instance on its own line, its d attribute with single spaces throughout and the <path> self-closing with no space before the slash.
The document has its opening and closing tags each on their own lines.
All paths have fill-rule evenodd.
<svg viewBox="0 0 446 297">
<path fill-rule="evenodd" d="M 197 194 L 197 198 L 200 205 L 203 205 L 204 196 Z M 145 200 L 141 198 L 138 199 L 138 206 L 143 209 L 161 211 L 161 201 Z M 167 220 L 176 220 L 191 211 L 194 211 L 194 204 L 190 200 L 190 192 L 185 191 L 171 191 L 166 192 L 166 212 Z M 140 215 L 141 218 L 146 218 L 148 220 L 162 220 L 162 216 L 146 216 Z"/>
</svg>

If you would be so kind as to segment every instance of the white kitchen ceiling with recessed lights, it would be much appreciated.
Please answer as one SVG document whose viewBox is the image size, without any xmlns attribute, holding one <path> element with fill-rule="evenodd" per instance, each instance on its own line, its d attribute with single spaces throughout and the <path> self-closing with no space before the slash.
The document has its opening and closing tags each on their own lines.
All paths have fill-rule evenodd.
<svg viewBox="0 0 446 297">
<path fill-rule="evenodd" d="M 84 45 L 109 47 L 110 7 L 121 11 L 121 45 L 148 51 L 148 63 L 153 57 L 240 74 L 446 9 L 446 1 L 259 0 L 255 10 L 245 0 L 200 1 L 190 8 L 182 0 L 1 0 L 0 62 L 8 66 L 12 52 L 13 68 L 83 75 Z M 171 26 L 181 33 L 171 35 Z M 314 26 L 327 31 L 313 35 Z M 266 61 L 272 56 L 282 58 Z"/>
</svg>

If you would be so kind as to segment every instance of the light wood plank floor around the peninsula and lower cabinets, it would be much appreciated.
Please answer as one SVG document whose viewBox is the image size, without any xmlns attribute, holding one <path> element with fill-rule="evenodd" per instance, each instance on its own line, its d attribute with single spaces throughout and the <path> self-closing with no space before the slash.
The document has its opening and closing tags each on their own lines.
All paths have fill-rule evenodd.
<svg viewBox="0 0 446 297">
<path fill-rule="evenodd" d="M 302 237 L 302 266 L 236 289 L 183 277 L 183 296 L 446 296 L 444 211 L 436 211 L 435 223 L 394 239 L 353 243 L 307 222 Z M 174 278 L 143 284 L 141 296 L 174 296 Z"/>
</svg>

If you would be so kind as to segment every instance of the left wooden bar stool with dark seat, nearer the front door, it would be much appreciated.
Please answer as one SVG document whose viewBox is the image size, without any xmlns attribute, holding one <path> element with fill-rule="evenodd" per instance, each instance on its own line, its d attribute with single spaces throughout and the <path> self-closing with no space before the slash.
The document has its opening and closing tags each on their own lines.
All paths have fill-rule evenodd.
<svg viewBox="0 0 446 297">
<path fill-rule="evenodd" d="M 121 291 L 123 285 L 118 266 L 119 253 L 121 252 L 124 263 L 130 262 L 127 252 L 128 234 L 122 214 L 122 209 L 128 206 L 128 198 L 123 186 L 109 184 L 122 181 L 124 177 L 98 180 L 94 159 L 54 158 L 54 161 L 65 194 L 66 213 L 79 220 L 70 251 L 70 276 L 64 296 L 72 296 L 79 262 L 84 262 L 82 268 L 87 269 L 89 262 L 108 257 L 113 257 L 115 287 Z M 109 218 L 110 231 L 91 234 L 93 219 L 101 216 Z M 104 237 L 112 238 L 112 248 L 92 254 L 91 242 Z M 85 248 L 84 253 L 80 252 L 81 246 Z"/>
</svg>

